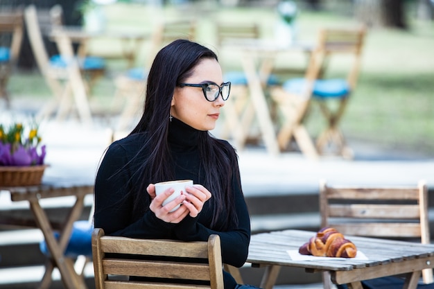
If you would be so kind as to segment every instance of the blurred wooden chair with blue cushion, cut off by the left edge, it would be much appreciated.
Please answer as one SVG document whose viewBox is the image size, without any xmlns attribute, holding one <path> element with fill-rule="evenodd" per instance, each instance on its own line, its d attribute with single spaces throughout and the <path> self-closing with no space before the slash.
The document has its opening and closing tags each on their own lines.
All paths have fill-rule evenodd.
<svg viewBox="0 0 434 289">
<path fill-rule="evenodd" d="M 3 38 L 8 39 L 7 43 L 0 43 L 0 98 L 6 100 L 7 107 L 10 107 L 10 98 L 6 87 L 21 50 L 23 30 L 23 12 L 21 9 L 0 12 L 1 40 Z"/>
</svg>

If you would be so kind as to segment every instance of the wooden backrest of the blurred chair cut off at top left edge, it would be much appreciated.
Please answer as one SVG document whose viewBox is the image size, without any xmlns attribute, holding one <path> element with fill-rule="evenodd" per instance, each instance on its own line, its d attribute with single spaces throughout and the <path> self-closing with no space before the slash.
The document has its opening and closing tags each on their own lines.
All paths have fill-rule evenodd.
<svg viewBox="0 0 434 289">
<path fill-rule="evenodd" d="M 9 63 L 15 64 L 18 59 L 23 40 L 23 12 L 21 9 L 0 12 L 0 34 L 10 33 L 10 58 Z"/>
</svg>

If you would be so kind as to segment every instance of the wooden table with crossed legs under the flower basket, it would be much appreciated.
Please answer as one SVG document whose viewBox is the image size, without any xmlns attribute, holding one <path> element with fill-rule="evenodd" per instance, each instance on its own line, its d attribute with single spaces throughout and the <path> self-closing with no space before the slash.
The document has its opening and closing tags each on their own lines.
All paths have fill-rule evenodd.
<svg viewBox="0 0 434 289">
<path fill-rule="evenodd" d="M 73 260 L 64 256 L 64 249 L 68 245 L 69 236 L 71 236 L 73 222 L 80 218 L 84 207 L 85 195 L 92 194 L 94 191 L 93 184 L 53 184 L 42 183 L 39 186 L 17 186 L 17 187 L 0 187 L 0 191 L 9 191 L 10 198 L 13 202 L 28 201 L 31 211 L 35 217 L 36 225 L 41 229 L 46 240 L 46 245 L 51 253 L 51 259 L 46 263 L 46 271 L 40 283 L 39 288 L 49 288 L 51 283 L 51 273 L 53 268 L 57 267 L 62 277 L 62 282 L 65 288 L 78 289 L 86 288 L 83 276 L 77 274 L 73 268 Z M 75 204 L 69 210 L 59 239 L 57 240 L 53 234 L 53 225 L 51 224 L 46 211 L 41 207 L 40 200 L 44 198 L 58 198 L 74 196 Z M 13 223 L 13 220 L 10 220 Z M 17 220 L 20 223 L 20 220 Z"/>
</svg>

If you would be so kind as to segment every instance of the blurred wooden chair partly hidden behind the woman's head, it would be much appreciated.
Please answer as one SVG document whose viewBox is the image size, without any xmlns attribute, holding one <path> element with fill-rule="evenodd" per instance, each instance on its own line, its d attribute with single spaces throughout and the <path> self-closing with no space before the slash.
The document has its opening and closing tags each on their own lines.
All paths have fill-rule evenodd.
<svg viewBox="0 0 434 289">
<path fill-rule="evenodd" d="M 129 69 L 126 73 L 115 78 L 116 92 L 112 107 L 117 109 L 122 107 L 122 103 L 124 103 L 115 130 L 129 130 L 134 119 L 139 119 L 144 107 L 148 69 L 150 69 L 155 55 L 163 46 L 180 38 L 196 40 L 196 21 L 179 19 L 158 24 L 153 31 L 148 58 L 146 58 L 144 66 Z"/>
</svg>

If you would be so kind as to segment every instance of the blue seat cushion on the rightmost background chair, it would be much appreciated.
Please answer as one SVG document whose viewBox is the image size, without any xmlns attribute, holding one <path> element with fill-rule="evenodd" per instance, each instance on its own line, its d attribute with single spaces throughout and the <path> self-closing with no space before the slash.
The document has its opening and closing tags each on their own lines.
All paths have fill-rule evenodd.
<svg viewBox="0 0 434 289">
<path fill-rule="evenodd" d="M 286 80 L 282 87 L 285 91 L 301 94 L 305 88 L 305 78 L 293 78 Z M 345 98 L 350 91 L 348 82 L 344 79 L 316 80 L 313 85 L 313 97 L 315 98 Z"/>
</svg>

